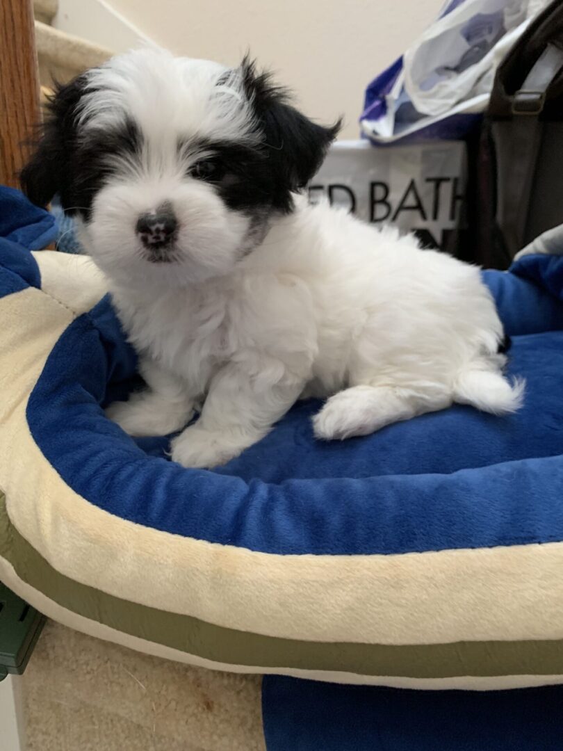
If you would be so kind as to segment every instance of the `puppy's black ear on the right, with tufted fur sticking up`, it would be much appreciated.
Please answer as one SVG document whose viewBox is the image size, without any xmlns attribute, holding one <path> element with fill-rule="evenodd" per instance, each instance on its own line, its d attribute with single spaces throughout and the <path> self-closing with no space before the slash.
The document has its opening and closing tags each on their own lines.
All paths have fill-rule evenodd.
<svg viewBox="0 0 563 751">
<path fill-rule="evenodd" d="M 289 104 L 288 92 L 272 84 L 268 73 L 257 72 L 248 56 L 242 60 L 241 71 L 245 95 L 263 131 L 269 163 L 273 167 L 275 162 L 276 176 L 285 179 L 291 191 L 305 188 L 321 167 L 342 119 L 329 128 L 312 122 Z"/>
</svg>

